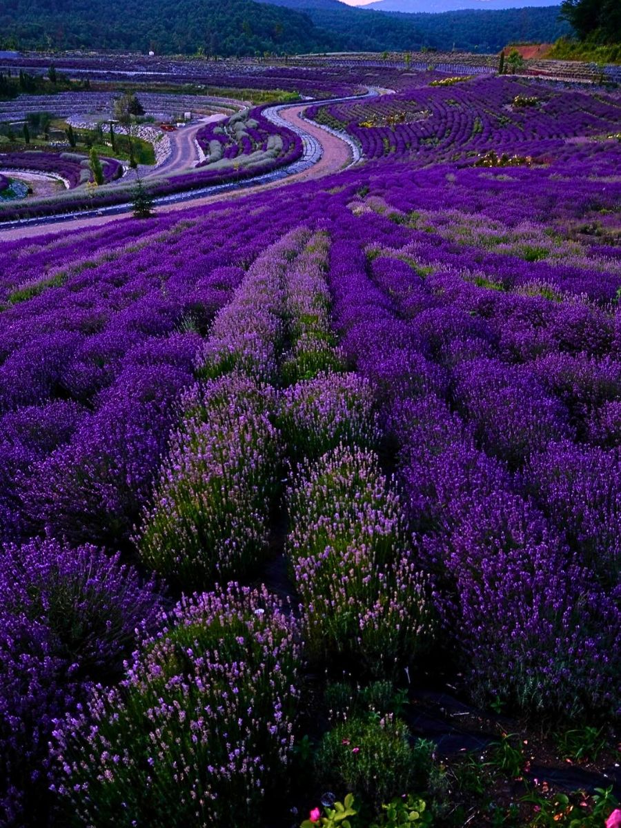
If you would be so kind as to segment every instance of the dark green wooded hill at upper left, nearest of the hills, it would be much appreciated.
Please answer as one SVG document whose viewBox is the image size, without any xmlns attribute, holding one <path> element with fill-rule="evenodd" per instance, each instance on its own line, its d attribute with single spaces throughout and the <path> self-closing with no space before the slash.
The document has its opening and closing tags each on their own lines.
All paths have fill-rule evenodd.
<svg viewBox="0 0 621 828">
<path fill-rule="evenodd" d="M 0 0 L 0 47 L 229 56 L 341 45 L 305 14 L 252 0 Z"/>
</svg>

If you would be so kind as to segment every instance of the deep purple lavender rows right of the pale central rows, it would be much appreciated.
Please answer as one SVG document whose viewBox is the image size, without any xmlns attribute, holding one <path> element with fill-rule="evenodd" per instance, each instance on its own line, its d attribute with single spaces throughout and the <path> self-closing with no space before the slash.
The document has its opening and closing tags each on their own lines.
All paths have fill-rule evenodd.
<svg viewBox="0 0 621 828">
<path fill-rule="evenodd" d="M 335 244 L 339 325 L 383 390 L 408 516 L 450 596 L 443 612 L 468 653 L 469 691 L 539 715 L 613 713 L 619 459 L 582 443 L 580 426 L 609 425 L 619 405 L 619 363 L 592 355 L 611 348 L 614 318 L 608 347 L 589 353 L 583 337 L 605 321 L 599 311 L 507 300 L 410 248 L 407 262 L 402 251 L 369 262 L 378 230 L 350 224 L 355 258 L 349 241 Z M 499 340 L 513 339 L 517 320 L 549 355 L 503 359 Z"/>
</svg>

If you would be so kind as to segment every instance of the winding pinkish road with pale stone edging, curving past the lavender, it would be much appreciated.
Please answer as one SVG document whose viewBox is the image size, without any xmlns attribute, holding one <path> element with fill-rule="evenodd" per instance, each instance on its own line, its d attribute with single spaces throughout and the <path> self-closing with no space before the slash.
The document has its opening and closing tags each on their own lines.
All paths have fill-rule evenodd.
<svg viewBox="0 0 621 828">
<path fill-rule="evenodd" d="M 368 89 L 363 96 L 351 96 L 350 98 L 335 99 L 350 100 L 359 97 L 370 97 L 377 94 L 387 94 L 392 90 Z M 319 124 L 306 120 L 303 113 L 306 108 L 315 101 L 296 103 L 293 105 L 280 105 L 264 110 L 266 118 L 272 123 L 283 125 L 297 132 L 304 143 L 304 154 L 300 161 L 296 161 L 286 168 L 258 175 L 256 178 L 246 181 L 234 182 L 221 185 L 212 185 L 205 190 L 192 190 L 176 195 L 163 196 L 155 200 L 156 212 L 169 213 L 176 210 L 210 205 L 214 202 L 229 201 L 240 198 L 243 195 L 256 193 L 262 190 L 271 190 L 282 185 L 295 181 L 308 181 L 310 179 L 328 176 L 338 172 L 359 160 L 358 148 L 354 142 L 344 133 L 335 132 L 324 128 Z M 324 102 L 322 102 L 324 103 Z M 325 102 L 329 103 L 329 102 Z M 213 116 L 212 116 L 213 117 Z M 195 133 L 204 126 L 205 122 L 186 127 L 178 133 L 179 138 L 174 142 L 174 149 L 164 164 L 152 171 L 153 176 L 160 176 L 162 171 L 170 174 L 171 170 L 176 172 L 194 166 L 197 161 L 194 138 Z M 172 165 L 172 166 L 171 166 Z M 20 238 L 34 238 L 36 236 L 48 235 L 50 233 L 66 233 L 75 229 L 88 229 L 100 227 L 119 219 L 127 218 L 131 213 L 130 205 L 114 205 L 104 208 L 96 214 L 64 214 L 49 216 L 42 219 L 31 219 L 20 223 L 0 224 L 0 243 L 2 241 L 15 241 Z"/>
</svg>

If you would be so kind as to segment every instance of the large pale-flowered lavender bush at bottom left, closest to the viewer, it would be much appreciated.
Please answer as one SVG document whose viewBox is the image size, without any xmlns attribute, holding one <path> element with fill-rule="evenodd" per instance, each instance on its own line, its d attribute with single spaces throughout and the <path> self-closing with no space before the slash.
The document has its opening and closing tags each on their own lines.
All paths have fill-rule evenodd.
<svg viewBox="0 0 621 828">
<path fill-rule="evenodd" d="M 291 757 L 296 623 L 265 589 L 184 598 L 118 689 L 55 729 L 55 789 L 76 825 L 248 826 Z"/>
</svg>

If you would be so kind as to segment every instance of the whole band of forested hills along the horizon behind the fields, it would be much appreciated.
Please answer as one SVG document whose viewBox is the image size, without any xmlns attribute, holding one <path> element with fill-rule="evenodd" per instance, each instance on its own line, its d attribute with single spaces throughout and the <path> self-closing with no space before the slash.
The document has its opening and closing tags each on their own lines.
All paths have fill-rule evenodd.
<svg viewBox="0 0 621 828">
<path fill-rule="evenodd" d="M 0 0 L 0 47 L 257 55 L 344 50 L 499 51 L 570 34 L 558 7 L 378 13 L 336 0 Z"/>
</svg>

